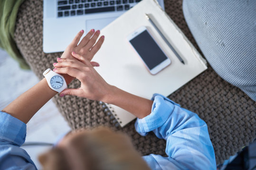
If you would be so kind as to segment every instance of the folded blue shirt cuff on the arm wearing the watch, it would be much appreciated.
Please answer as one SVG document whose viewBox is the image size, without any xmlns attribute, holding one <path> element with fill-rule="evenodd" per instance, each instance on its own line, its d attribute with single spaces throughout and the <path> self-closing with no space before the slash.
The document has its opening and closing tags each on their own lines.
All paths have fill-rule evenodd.
<svg viewBox="0 0 256 170">
<path fill-rule="evenodd" d="M 0 140 L 21 146 L 26 139 L 26 130 L 24 122 L 0 111 Z"/>
</svg>

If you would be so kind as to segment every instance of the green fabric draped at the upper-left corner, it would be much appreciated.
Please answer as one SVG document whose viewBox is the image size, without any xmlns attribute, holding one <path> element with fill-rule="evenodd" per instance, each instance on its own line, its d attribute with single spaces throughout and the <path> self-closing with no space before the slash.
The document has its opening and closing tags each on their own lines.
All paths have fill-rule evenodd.
<svg viewBox="0 0 256 170">
<path fill-rule="evenodd" d="M 20 68 L 29 69 L 15 41 L 14 31 L 20 4 L 24 0 L 0 0 L 0 47 L 19 62 Z"/>
</svg>

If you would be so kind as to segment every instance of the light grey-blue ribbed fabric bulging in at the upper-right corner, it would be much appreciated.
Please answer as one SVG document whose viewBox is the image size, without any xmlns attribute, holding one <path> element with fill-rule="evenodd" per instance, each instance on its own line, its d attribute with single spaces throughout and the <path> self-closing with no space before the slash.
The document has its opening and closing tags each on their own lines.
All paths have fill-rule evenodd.
<svg viewBox="0 0 256 170">
<path fill-rule="evenodd" d="M 256 101 L 256 0 L 183 0 L 183 13 L 211 67 Z"/>
</svg>

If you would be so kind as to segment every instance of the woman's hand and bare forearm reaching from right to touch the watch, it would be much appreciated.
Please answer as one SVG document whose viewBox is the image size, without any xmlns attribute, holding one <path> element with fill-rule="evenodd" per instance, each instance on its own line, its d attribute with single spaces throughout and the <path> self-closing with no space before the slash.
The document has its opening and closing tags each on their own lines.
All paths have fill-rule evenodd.
<svg viewBox="0 0 256 170">
<path fill-rule="evenodd" d="M 60 59 L 53 69 L 59 74 L 76 77 L 81 86 L 77 89 L 65 89 L 60 97 L 76 95 L 87 99 L 114 104 L 129 111 L 137 118 L 144 118 L 151 113 L 153 101 L 125 92 L 109 85 L 93 68 L 89 60 L 72 52 L 76 59 Z M 77 60 L 78 59 L 78 60 Z M 79 61 L 80 60 L 80 61 Z"/>
</svg>

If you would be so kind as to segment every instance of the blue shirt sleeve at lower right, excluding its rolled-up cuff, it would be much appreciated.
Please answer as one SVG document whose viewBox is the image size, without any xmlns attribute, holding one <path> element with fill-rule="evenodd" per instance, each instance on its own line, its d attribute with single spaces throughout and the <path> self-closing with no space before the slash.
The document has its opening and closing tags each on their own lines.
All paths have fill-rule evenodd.
<svg viewBox="0 0 256 170">
<path fill-rule="evenodd" d="M 189 170 L 216 170 L 216 161 L 207 124 L 198 115 L 176 108 L 163 127 L 153 132 L 165 136 L 166 153 Z M 178 115 L 179 114 L 179 115 Z M 179 121 L 180 123 L 172 123 Z M 177 152 L 178 151 L 178 152 Z"/>
</svg>

